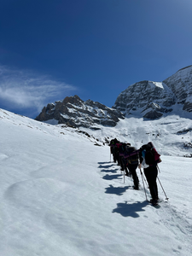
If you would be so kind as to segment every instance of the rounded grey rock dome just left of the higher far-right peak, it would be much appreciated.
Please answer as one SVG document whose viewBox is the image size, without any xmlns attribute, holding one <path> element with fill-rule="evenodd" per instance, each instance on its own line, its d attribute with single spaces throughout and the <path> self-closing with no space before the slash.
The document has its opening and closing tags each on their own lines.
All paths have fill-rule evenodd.
<svg viewBox="0 0 192 256">
<path fill-rule="evenodd" d="M 163 113 L 171 112 L 175 103 L 176 97 L 166 84 L 142 81 L 121 92 L 113 108 L 126 115 L 140 114 L 148 119 L 156 119 Z"/>
</svg>

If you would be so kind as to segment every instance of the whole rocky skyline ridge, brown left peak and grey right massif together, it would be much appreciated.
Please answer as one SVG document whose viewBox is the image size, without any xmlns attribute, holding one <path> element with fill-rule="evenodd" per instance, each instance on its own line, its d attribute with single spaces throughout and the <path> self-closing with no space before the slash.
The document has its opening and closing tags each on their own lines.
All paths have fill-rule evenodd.
<svg viewBox="0 0 192 256">
<path fill-rule="evenodd" d="M 163 82 L 142 81 L 130 85 L 117 97 L 113 108 L 99 102 L 82 101 L 79 96 L 49 103 L 36 120 L 52 125 L 100 129 L 115 126 L 119 119 L 131 116 L 158 119 L 177 114 L 192 118 L 192 66 L 184 67 Z"/>
</svg>

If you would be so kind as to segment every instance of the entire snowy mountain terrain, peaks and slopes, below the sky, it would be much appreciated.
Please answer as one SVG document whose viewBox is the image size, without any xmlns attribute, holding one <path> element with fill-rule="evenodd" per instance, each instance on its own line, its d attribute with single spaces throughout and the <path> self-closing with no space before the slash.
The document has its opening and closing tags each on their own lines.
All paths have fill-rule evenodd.
<svg viewBox="0 0 192 256">
<path fill-rule="evenodd" d="M 44 122 L 0 109 L 0 255 L 192 255 L 191 70 L 131 85 L 117 109 L 79 96 L 48 104 Z M 161 154 L 159 209 L 143 170 L 134 190 L 113 163 L 114 137 Z"/>
</svg>

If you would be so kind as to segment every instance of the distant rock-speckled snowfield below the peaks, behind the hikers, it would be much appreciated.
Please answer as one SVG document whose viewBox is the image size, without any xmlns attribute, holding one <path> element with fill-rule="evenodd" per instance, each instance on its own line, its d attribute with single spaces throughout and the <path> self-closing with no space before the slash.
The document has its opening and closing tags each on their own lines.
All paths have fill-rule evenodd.
<svg viewBox="0 0 192 256">
<path fill-rule="evenodd" d="M 90 135 L 101 142 L 117 137 L 121 142 L 129 142 L 136 148 L 153 142 L 160 154 L 172 156 L 192 156 L 192 119 L 178 115 L 167 115 L 160 119 L 147 120 L 143 118 L 120 119 L 115 127 L 103 127 L 101 130 L 90 131 Z"/>
</svg>

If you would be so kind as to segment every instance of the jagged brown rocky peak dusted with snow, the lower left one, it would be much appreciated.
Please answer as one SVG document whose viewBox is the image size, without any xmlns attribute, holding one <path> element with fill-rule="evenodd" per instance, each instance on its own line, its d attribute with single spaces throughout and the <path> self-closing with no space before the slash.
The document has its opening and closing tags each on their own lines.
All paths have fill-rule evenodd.
<svg viewBox="0 0 192 256">
<path fill-rule="evenodd" d="M 70 96 L 62 102 L 49 103 L 36 118 L 38 121 L 51 119 L 57 120 L 58 124 L 96 129 L 96 124 L 115 126 L 124 116 L 119 110 L 108 108 L 99 102 L 84 102 L 79 96 Z"/>
</svg>

